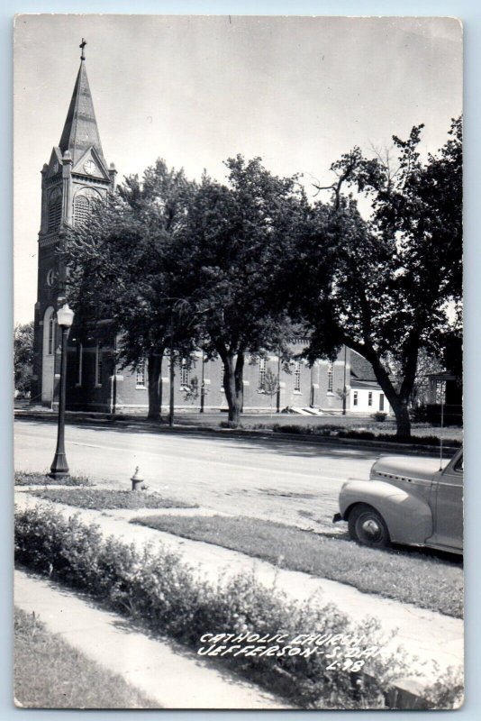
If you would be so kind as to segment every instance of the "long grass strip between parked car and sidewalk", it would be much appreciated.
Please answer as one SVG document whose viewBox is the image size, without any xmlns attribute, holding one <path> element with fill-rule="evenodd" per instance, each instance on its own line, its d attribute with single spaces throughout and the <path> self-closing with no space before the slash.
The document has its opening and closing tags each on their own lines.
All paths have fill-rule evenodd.
<svg viewBox="0 0 481 721">
<path fill-rule="evenodd" d="M 463 615 L 463 570 L 457 563 L 359 546 L 246 516 L 149 516 L 132 523 L 247 553 L 289 570 L 340 581 L 366 593 Z"/>
</svg>

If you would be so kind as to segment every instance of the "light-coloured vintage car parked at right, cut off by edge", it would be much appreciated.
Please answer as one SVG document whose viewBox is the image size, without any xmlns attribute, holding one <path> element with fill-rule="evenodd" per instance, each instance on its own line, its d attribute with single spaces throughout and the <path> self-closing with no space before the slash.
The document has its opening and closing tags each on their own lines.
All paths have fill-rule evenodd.
<svg viewBox="0 0 481 721">
<path fill-rule="evenodd" d="M 340 489 L 340 513 L 350 537 L 364 545 L 390 543 L 463 552 L 463 452 L 440 459 L 382 456 L 369 480 Z"/>
</svg>

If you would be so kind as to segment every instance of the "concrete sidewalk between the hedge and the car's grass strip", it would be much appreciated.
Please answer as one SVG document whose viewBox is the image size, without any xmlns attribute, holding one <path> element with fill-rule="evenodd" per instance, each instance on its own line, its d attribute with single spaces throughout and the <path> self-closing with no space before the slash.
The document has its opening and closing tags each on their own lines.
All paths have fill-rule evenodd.
<svg viewBox="0 0 481 721">
<path fill-rule="evenodd" d="M 20 508 L 41 503 L 44 507 L 55 507 L 65 516 L 78 513 L 83 522 L 100 525 L 106 536 L 113 535 L 123 543 L 135 543 L 139 547 L 149 543 L 154 548 L 156 543 L 162 543 L 169 550 L 182 553 L 188 565 L 195 567 L 199 575 L 213 582 L 217 582 L 221 574 L 228 579 L 233 575 L 247 574 L 254 570 L 260 582 L 268 587 L 275 585 L 290 598 L 305 600 L 315 596 L 319 598 L 321 605 L 334 604 L 354 622 L 374 616 L 386 634 L 397 630 L 395 638 L 386 646 L 388 650 L 395 652 L 397 647 L 402 645 L 410 656 L 418 657 L 424 683 L 431 683 L 449 666 L 463 666 L 462 619 L 361 593 L 336 581 L 319 579 L 299 571 L 277 569 L 266 561 L 254 560 L 243 553 L 211 543 L 191 541 L 146 526 L 129 524 L 132 517 L 159 515 L 162 509 L 86 510 L 41 501 L 30 496 L 25 488 L 17 490 L 15 501 Z M 202 509 L 197 512 L 202 513 Z M 422 668 L 423 662 L 427 662 L 426 668 Z M 439 665 L 439 671 L 433 669 L 432 662 Z"/>
</svg>

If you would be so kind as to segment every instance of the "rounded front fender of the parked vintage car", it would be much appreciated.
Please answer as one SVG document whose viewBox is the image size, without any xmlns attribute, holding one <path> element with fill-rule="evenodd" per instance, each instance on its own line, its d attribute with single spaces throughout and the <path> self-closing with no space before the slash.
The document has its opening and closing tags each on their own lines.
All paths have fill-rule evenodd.
<svg viewBox="0 0 481 721">
<path fill-rule="evenodd" d="M 391 541 L 422 545 L 433 533 L 426 501 L 382 480 L 349 480 L 340 489 L 340 515 L 347 521 L 359 503 L 375 508 L 386 521 Z"/>
</svg>

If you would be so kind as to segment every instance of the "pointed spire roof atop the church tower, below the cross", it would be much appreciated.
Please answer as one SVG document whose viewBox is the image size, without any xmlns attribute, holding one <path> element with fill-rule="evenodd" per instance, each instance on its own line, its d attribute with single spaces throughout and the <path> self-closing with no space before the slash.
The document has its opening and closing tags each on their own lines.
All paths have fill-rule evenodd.
<svg viewBox="0 0 481 721">
<path fill-rule="evenodd" d="M 105 164 L 85 66 L 85 59 L 82 58 L 59 148 L 62 154 L 70 151 L 75 165 L 88 148 L 94 147 Z"/>
</svg>

